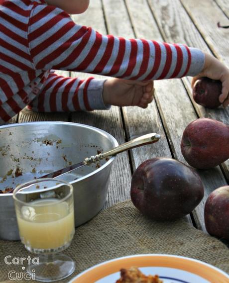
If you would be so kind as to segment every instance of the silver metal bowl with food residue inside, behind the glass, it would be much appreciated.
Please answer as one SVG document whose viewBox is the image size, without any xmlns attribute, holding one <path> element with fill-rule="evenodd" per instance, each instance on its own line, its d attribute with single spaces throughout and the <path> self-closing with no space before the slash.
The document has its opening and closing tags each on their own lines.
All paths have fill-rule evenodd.
<svg viewBox="0 0 229 283">
<path fill-rule="evenodd" d="M 0 190 L 15 188 L 117 145 L 109 133 L 77 123 L 30 122 L 0 126 Z M 59 177 L 74 187 L 76 226 L 102 209 L 113 160 L 114 157 Z M 0 238 L 19 240 L 12 193 L 0 193 Z"/>
</svg>

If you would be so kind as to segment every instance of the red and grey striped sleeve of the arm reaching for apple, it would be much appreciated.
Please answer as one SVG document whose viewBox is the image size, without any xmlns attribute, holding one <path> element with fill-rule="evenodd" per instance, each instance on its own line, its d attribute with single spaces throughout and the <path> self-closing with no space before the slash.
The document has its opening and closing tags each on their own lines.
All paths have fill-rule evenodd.
<svg viewBox="0 0 229 283">
<path fill-rule="evenodd" d="M 36 5 L 29 25 L 36 69 L 80 71 L 131 80 L 195 76 L 204 65 L 196 48 L 153 40 L 102 35 L 75 24 L 63 10 Z"/>
</svg>

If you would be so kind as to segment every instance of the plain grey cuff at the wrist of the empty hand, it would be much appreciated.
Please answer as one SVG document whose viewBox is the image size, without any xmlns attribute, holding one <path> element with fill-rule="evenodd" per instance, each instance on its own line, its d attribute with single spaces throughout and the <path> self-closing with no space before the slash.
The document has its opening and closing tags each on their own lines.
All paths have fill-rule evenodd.
<svg viewBox="0 0 229 283">
<path fill-rule="evenodd" d="M 104 83 L 107 80 L 91 80 L 88 86 L 88 101 L 92 110 L 109 110 L 110 104 L 105 104 L 103 99 Z"/>
</svg>

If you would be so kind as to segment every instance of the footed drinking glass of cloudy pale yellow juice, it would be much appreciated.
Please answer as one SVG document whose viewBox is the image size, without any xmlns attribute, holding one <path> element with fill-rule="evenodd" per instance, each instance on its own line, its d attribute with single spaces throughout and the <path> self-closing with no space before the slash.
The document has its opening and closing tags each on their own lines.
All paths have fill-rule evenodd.
<svg viewBox="0 0 229 283">
<path fill-rule="evenodd" d="M 41 282 L 70 276 L 75 262 L 59 252 L 69 247 L 75 233 L 73 187 L 57 179 L 36 179 L 13 191 L 21 242 L 39 262 L 27 272 Z"/>
</svg>

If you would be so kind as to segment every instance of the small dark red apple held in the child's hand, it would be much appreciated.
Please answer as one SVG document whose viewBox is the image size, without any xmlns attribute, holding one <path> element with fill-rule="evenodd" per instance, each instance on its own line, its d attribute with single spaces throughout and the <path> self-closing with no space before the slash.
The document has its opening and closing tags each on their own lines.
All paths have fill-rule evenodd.
<svg viewBox="0 0 229 283">
<path fill-rule="evenodd" d="M 200 78 L 195 82 L 193 88 L 193 99 L 200 105 L 208 108 L 217 108 L 222 103 L 219 96 L 222 93 L 221 81 L 211 80 L 209 78 Z"/>
</svg>

